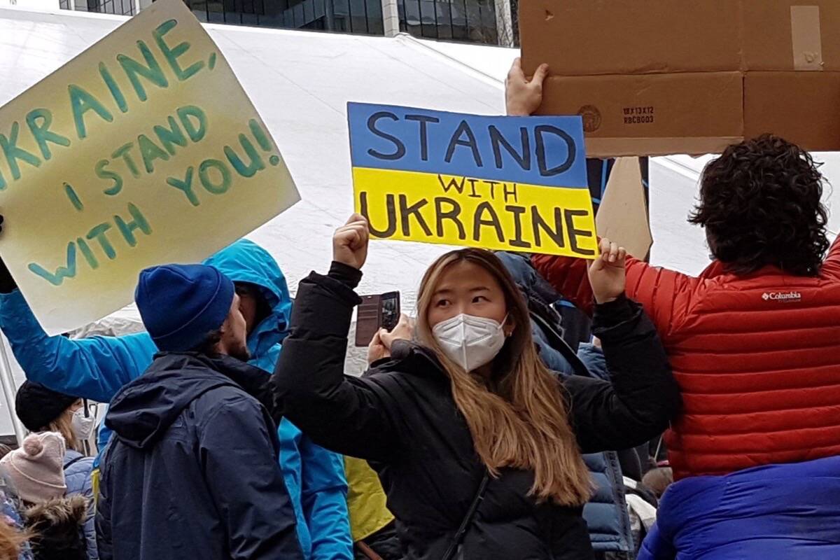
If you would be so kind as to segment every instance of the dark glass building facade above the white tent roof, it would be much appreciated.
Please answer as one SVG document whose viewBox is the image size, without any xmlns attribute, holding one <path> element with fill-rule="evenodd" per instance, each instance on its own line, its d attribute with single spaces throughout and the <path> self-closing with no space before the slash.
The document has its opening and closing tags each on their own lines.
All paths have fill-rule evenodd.
<svg viewBox="0 0 840 560">
<path fill-rule="evenodd" d="M 154 0 L 151 0 L 154 1 Z M 400 30 L 423 39 L 498 44 L 495 0 L 396 1 Z M 383 0 L 184 0 L 202 22 L 383 35 Z M 87 12 L 134 15 L 135 0 L 60 0 Z M 144 8 L 150 0 L 140 0 Z"/>
</svg>

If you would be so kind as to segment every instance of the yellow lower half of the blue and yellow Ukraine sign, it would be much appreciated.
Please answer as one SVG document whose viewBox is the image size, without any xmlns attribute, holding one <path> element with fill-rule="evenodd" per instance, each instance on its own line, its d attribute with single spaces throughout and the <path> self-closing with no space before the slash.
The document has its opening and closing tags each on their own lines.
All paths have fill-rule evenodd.
<svg viewBox="0 0 840 560">
<path fill-rule="evenodd" d="M 589 190 L 356 167 L 373 238 L 593 259 Z"/>
</svg>

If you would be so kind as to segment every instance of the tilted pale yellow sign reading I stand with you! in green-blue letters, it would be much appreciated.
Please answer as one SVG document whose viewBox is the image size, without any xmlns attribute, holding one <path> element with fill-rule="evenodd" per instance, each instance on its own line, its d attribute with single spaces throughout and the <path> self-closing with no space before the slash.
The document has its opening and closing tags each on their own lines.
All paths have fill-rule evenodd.
<svg viewBox="0 0 840 560">
<path fill-rule="evenodd" d="M 299 200 L 265 123 L 181 0 L 0 108 L 0 254 L 47 332 L 133 300 Z"/>
</svg>

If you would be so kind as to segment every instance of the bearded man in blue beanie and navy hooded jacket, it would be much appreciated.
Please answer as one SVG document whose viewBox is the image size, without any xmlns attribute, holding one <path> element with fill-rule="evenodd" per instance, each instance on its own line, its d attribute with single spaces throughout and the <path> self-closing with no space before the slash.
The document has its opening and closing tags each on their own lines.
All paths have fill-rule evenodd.
<svg viewBox="0 0 840 560">
<path fill-rule="evenodd" d="M 171 264 L 144 270 L 135 300 L 160 353 L 105 419 L 99 557 L 302 560 L 234 283 Z"/>
</svg>

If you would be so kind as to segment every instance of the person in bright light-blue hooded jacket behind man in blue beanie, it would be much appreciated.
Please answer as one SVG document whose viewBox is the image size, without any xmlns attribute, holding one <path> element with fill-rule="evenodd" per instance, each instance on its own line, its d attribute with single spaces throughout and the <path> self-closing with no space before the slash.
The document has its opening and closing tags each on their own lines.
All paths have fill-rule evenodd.
<svg viewBox="0 0 840 560">
<path fill-rule="evenodd" d="M 270 374 L 291 317 L 291 298 L 280 267 L 265 249 L 247 240 L 223 249 L 205 264 L 234 280 L 249 327 L 249 363 Z M 2 263 L 0 328 L 30 380 L 98 402 L 109 402 L 123 385 L 143 374 L 157 353 L 145 332 L 81 340 L 47 336 Z M 281 468 L 297 515 L 304 557 L 351 560 L 343 458 L 315 445 L 286 419 L 278 435 Z M 100 431 L 100 449 L 109 436 L 108 431 Z"/>
</svg>

